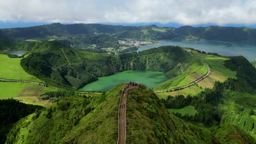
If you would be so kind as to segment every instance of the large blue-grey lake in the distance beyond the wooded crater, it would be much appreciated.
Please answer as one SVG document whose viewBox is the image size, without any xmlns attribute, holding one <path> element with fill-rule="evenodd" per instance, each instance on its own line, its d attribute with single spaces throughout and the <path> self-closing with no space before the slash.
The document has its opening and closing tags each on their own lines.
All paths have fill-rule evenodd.
<svg viewBox="0 0 256 144">
<path fill-rule="evenodd" d="M 244 56 L 248 61 L 256 58 L 256 45 L 247 43 L 234 43 L 225 41 L 200 40 L 200 41 L 165 41 L 159 45 L 144 45 L 137 51 L 148 50 L 154 47 L 175 45 L 181 47 L 191 47 L 196 50 L 218 53 L 224 56 Z"/>
</svg>

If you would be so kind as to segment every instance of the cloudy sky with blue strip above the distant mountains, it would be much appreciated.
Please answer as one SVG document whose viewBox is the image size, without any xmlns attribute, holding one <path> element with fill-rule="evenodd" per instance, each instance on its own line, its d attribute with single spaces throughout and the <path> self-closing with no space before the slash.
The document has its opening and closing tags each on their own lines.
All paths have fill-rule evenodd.
<svg viewBox="0 0 256 144">
<path fill-rule="evenodd" d="M 0 0 L 0 28 L 55 22 L 254 27 L 256 1 Z"/>
</svg>

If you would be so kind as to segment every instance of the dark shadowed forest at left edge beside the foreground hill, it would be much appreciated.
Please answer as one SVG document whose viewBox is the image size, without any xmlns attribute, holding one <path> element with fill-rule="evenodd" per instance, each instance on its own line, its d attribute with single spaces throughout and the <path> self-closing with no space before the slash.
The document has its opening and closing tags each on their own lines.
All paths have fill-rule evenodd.
<svg viewBox="0 0 256 144">
<path fill-rule="evenodd" d="M 40 109 L 43 107 L 24 104 L 15 99 L 0 100 L 0 143 L 5 142 L 14 123 Z"/>
</svg>

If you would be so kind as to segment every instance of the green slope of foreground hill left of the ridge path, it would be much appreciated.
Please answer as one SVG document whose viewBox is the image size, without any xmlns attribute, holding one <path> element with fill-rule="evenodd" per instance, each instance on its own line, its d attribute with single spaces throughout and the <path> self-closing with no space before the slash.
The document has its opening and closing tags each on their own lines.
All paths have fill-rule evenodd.
<svg viewBox="0 0 256 144">
<path fill-rule="evenodd" d="M 69 97 L 38 114 L 33 113 L 15 125 L 7 143 L 115 143 L 118 106 L 124 86 L 118 85 L 107 92 L 107 100 Z"/>
</svg>

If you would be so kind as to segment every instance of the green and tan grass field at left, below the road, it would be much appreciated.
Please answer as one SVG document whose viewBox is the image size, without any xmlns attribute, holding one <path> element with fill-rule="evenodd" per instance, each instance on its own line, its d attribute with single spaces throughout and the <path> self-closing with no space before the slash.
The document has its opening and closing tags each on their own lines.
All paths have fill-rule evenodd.
<svg viewBox="0 0 256 144">
<path fill-rule="evenodd" d="M 25 104 L 42 106 L 49 103 L 49 100 L 40 100 L 38 97 L 45 92 L 57 91 L 57 89 L 24 82 L 0 82 L 0 87 L 2 99 L 14 98 Z"/>
</svg>

